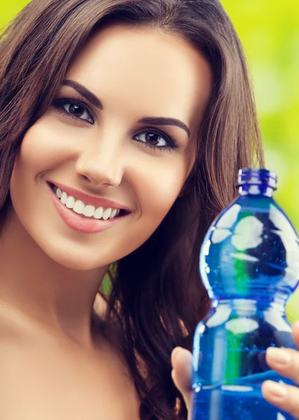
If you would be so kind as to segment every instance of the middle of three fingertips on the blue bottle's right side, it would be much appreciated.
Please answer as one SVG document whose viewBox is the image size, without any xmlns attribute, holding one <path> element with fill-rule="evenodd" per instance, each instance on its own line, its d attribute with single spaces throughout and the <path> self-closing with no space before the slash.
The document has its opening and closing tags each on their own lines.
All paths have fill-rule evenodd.
<svg viewBox="0 0 299 420">
<path fill-rule="evenodd" d="M 299 384 L 299 352 L 293 349 L 269 347 L 266 353 L 267 364 L 284 377 Z"/>
</svg>

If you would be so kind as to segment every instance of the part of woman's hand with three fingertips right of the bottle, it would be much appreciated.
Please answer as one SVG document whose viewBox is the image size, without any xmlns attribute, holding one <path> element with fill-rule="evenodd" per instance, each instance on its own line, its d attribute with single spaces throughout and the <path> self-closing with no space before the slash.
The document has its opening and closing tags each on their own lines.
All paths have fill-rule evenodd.
<svg viewBox="0 0 299 420">
<path fill-rule="evenodd" d="M 299 348 L 299 322 L 293 323 L 293 339 Z M 292 379 L 299 384 L 299 352 L 293 349 L 277 349 L 270 347 L 266 353 L 267 364 L 284 377 Z M 265 381 L 262 393 L 267 402 L 279 407 L 299 418 L 299 388 L 296 386 L 277 384 L 274 381 Z"/>
</svg>

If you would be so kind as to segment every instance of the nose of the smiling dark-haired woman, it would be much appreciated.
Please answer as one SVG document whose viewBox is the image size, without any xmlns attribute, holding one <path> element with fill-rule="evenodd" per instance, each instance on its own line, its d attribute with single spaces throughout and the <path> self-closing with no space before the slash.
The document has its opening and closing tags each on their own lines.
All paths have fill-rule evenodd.
<svg viewBox="0 0 299 420">
<path fill-rule="evenodd" d="M 123 179 L 121 146 L 117 141 L 97 139 L 81 151 L 76 172 L 92 187 L 119 186 Z"/>
</svg>

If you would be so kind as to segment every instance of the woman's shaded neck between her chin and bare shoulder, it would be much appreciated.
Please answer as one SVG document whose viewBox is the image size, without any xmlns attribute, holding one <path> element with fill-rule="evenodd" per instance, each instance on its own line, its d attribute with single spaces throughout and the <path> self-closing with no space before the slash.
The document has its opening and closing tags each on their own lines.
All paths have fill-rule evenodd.
<svg viewBox="0 0 299 420">
<path fill-rule="evenodd" d="M 52 260 L 11 214 L 0 237 L 0 300 L 34 323 L 92 342 L 92 313 L 108 267 L 79 271 Z"/>
</svg>

